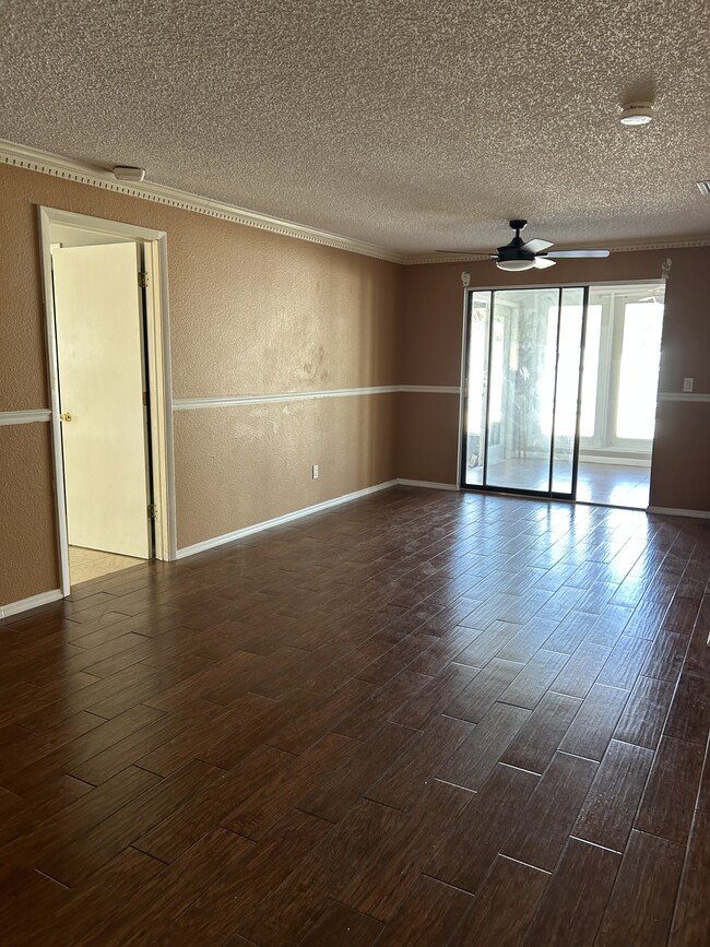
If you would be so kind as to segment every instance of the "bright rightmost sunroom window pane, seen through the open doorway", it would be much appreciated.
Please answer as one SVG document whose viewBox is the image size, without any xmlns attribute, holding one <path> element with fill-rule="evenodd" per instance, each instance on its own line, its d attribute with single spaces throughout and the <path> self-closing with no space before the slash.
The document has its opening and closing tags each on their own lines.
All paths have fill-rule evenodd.
<svg viewBox="0 0 710 947">
<path fill-rule="evenodd" d="M 661 360 L 663 306 L 655 300 L 627 303 L 624 307 L 624 341 L 616 437 L 652 440 Z"/>
</svg>

